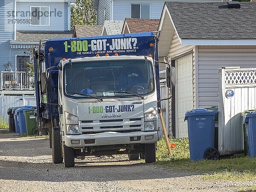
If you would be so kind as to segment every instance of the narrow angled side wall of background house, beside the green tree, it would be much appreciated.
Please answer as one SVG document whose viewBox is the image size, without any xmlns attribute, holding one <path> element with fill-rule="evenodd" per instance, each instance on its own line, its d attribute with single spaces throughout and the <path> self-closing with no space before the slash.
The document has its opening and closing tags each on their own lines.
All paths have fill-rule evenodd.
<svg viewBox="0 0 256 192">
<path fill-rule="evenodd" d="M 106 9 L 106 15 L 104 18 L 104 10 Z M 111 9 L 112 9 L 112 1 L 111 0 L 99 0 L 98 4 L 98 25 L 103 25 L 104 20 L 112 20 L 111 19 Z"/>
</svg>

